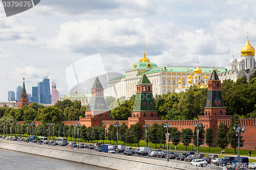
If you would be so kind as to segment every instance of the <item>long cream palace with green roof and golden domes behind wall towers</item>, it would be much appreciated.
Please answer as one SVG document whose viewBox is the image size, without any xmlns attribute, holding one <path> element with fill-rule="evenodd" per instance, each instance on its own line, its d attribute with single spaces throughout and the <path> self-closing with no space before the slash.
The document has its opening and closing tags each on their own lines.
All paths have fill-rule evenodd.
<svg viewBox="0 0 256 170">
<path fill-rule="evenodd" d="M 204 66 L 157 66 L 150 62 L 144 53 L 139 62 L 134 63 L 131 69 L 125 70 L 125 75 L 109 80 L 109 96 L 126 99 L 136 94 L 136 84 L 145 74 L 152 83 L 152 92 L 166 94 L 168 92 L 182 92 L 190 86 L 207 88 L 208 77 L 214 67 Z M 218 74 L 227 71 L 223 67 L 215 67 Z"/>
</svg>

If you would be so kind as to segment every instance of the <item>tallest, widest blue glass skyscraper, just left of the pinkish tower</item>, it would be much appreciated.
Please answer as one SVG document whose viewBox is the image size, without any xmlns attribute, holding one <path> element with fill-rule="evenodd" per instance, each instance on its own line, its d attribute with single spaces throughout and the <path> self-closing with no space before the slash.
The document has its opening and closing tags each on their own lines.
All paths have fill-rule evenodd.
<svg viewBox="0 0 256 170">
<path fill-rule="evenodd" d="M 52 103 L 49 79 L 45 78 L 44 80 L 42 80 L 42 82 L 38 83 L 38 103 L 42 103 L 42 104 Z"/>
</svg>

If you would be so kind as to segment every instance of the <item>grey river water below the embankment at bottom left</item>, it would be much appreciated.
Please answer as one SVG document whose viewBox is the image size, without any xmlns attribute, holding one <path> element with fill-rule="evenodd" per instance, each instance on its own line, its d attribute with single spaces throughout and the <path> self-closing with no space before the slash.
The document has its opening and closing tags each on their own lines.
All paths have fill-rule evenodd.
<svg viewBox="0 0 256 170">
<path fill-rule="evenodd" d="M 106 170 L 109 168 L 0 149 L 0 169 Z"/>
</svg>

